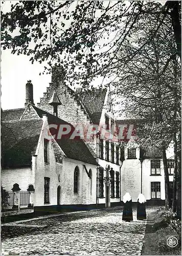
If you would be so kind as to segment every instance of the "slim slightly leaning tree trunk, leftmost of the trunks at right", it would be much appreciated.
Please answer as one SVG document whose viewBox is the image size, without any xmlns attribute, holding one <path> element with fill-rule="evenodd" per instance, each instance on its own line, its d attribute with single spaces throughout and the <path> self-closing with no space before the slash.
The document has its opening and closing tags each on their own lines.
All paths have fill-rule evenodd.
<svg viewBox="0 0 182 256">
<path fill-rule="evenodd" d="M 163 164 L 164 164 L 164 178 L 165 178 L 165 208 L 169 209 L 169 173 L 167 167 L 166 147 L 163 145 Z"/>
</svg>

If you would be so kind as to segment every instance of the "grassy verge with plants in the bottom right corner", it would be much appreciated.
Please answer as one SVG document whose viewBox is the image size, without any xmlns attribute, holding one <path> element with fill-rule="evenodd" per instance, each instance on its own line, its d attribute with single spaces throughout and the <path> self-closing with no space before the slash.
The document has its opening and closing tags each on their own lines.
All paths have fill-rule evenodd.
<svg viewBox="0 0 182 256">
<path fill-rule="evenodd" d="M 176 247 L 167 245 L 169 237 L 178 239 Z M 181 255 L 181 221 L 176 219 L 171 209 L 151 212 L 144 240 L 143 255 Z"/>
</svg>

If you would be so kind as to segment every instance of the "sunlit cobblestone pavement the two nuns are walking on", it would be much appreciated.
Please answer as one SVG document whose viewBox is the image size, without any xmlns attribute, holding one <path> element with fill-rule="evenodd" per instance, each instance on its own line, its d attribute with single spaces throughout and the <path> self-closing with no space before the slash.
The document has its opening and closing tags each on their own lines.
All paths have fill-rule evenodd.
<svg viewBox="0 0 182 256">
<path fill-rule="evenodd" d="M 154 209 L 147 209 L 147 214 L 151 211 Z M 134 221 L 124 222 L 121 209 L 110 209 L 70 214 L 66 219 L 58 216 L 24 222 L 34 228 L 48 224 L 43 229 L 5 238 L 2 252 L 4 255 L 141 255 L 146 221 L 137 221 L 136 215 L 134 209 Z"/>
</svg>

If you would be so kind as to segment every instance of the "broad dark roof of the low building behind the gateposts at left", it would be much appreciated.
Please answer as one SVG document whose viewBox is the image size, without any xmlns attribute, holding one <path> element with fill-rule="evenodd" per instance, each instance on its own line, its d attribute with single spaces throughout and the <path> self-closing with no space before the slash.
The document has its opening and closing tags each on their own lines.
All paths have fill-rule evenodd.
<svg viewBox="0 0 182 256">
<path fill-rule="evenodd" d="M 2 122 L 3 167 L 31 165 L 42 124 L 42 119 Z"/>
</svg>

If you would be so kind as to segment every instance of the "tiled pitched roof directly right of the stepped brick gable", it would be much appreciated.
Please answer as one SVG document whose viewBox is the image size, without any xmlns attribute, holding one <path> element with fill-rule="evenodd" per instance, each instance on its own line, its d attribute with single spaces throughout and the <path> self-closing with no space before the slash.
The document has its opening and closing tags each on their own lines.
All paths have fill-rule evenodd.
<svg viewBox="0 0 182 256">
<path fill-rule="evenodd" d="M 79 100 L 84 105 L 85 110 L 94 124 L 100 123 L 106 94 L 107 89 L 92 89 L 91 91 L 79 93 Z"/>
</svg>

